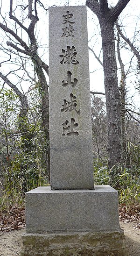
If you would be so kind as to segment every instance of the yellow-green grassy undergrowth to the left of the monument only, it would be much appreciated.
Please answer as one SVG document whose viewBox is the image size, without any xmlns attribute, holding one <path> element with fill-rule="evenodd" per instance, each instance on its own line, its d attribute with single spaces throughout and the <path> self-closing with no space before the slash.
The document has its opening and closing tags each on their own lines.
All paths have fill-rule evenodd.
<svg viewBox="0 0 140 256">
<path fill-rule="evenodd" d="M 37 172 L 19 172 L 16 170 L 5 175 L 3 183 L 0 182 L 0 212 L 9 213 L 12 206 L 25 206 L 25 192 L 28 192 L 38 186 L 45 186 L 47 178 L 45 173 Z"/>
</svg>

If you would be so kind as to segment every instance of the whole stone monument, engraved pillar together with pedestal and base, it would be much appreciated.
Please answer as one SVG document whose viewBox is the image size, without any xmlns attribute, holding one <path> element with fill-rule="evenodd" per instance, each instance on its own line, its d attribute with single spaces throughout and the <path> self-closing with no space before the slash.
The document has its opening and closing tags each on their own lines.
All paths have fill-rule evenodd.
<svg viewBox="0 0 140 256">
<path fill-rule="evenodd" d="M 118 194 L 93 186 L 86 7 L 49 8 L 50 187 L 26 193 L 22 256 L 125 256 Z"/>
</svg>

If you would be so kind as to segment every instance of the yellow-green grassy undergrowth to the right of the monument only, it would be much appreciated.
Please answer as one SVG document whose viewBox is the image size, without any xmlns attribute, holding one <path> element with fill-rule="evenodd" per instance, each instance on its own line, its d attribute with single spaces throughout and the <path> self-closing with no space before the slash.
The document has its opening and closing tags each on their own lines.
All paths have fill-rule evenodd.
<svg viewBox="0 0 140 256">
<path fill-rule="evenodd" d="M 140 168 L 102 166 L 100 162 L 94 163 L 94 185 L 111 185 L 118 191 L 119 204 L 140 205 Z"/>
</svg>

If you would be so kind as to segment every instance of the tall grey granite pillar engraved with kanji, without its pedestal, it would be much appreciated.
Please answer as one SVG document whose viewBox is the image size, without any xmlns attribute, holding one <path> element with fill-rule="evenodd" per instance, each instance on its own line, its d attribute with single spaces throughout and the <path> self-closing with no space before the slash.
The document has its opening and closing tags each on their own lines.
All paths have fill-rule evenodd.
<svg viewBox="0 0 140 256">
<path fill-rule="evenodd" d="M 86 7 L 49 8 L 52 190 L 93 189 Z"/>
</svg>

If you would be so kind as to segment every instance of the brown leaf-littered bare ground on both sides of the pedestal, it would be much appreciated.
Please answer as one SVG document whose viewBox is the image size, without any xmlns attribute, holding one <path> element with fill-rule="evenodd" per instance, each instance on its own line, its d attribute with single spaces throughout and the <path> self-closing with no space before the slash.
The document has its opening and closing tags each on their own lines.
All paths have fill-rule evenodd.
<svg viewBox="0 0 140 256">
<path fill-rule="evenodd" d="M 129 256 L 140 255 L 140 206 L 119 206 L 120 227 L 124 229 Z M 20 256 L 25 232 L 25 208 L 11 206 L 0 213 L 0 256 Z M 10 232 L 8 232 L 10 231 Z"/>
</svg>

